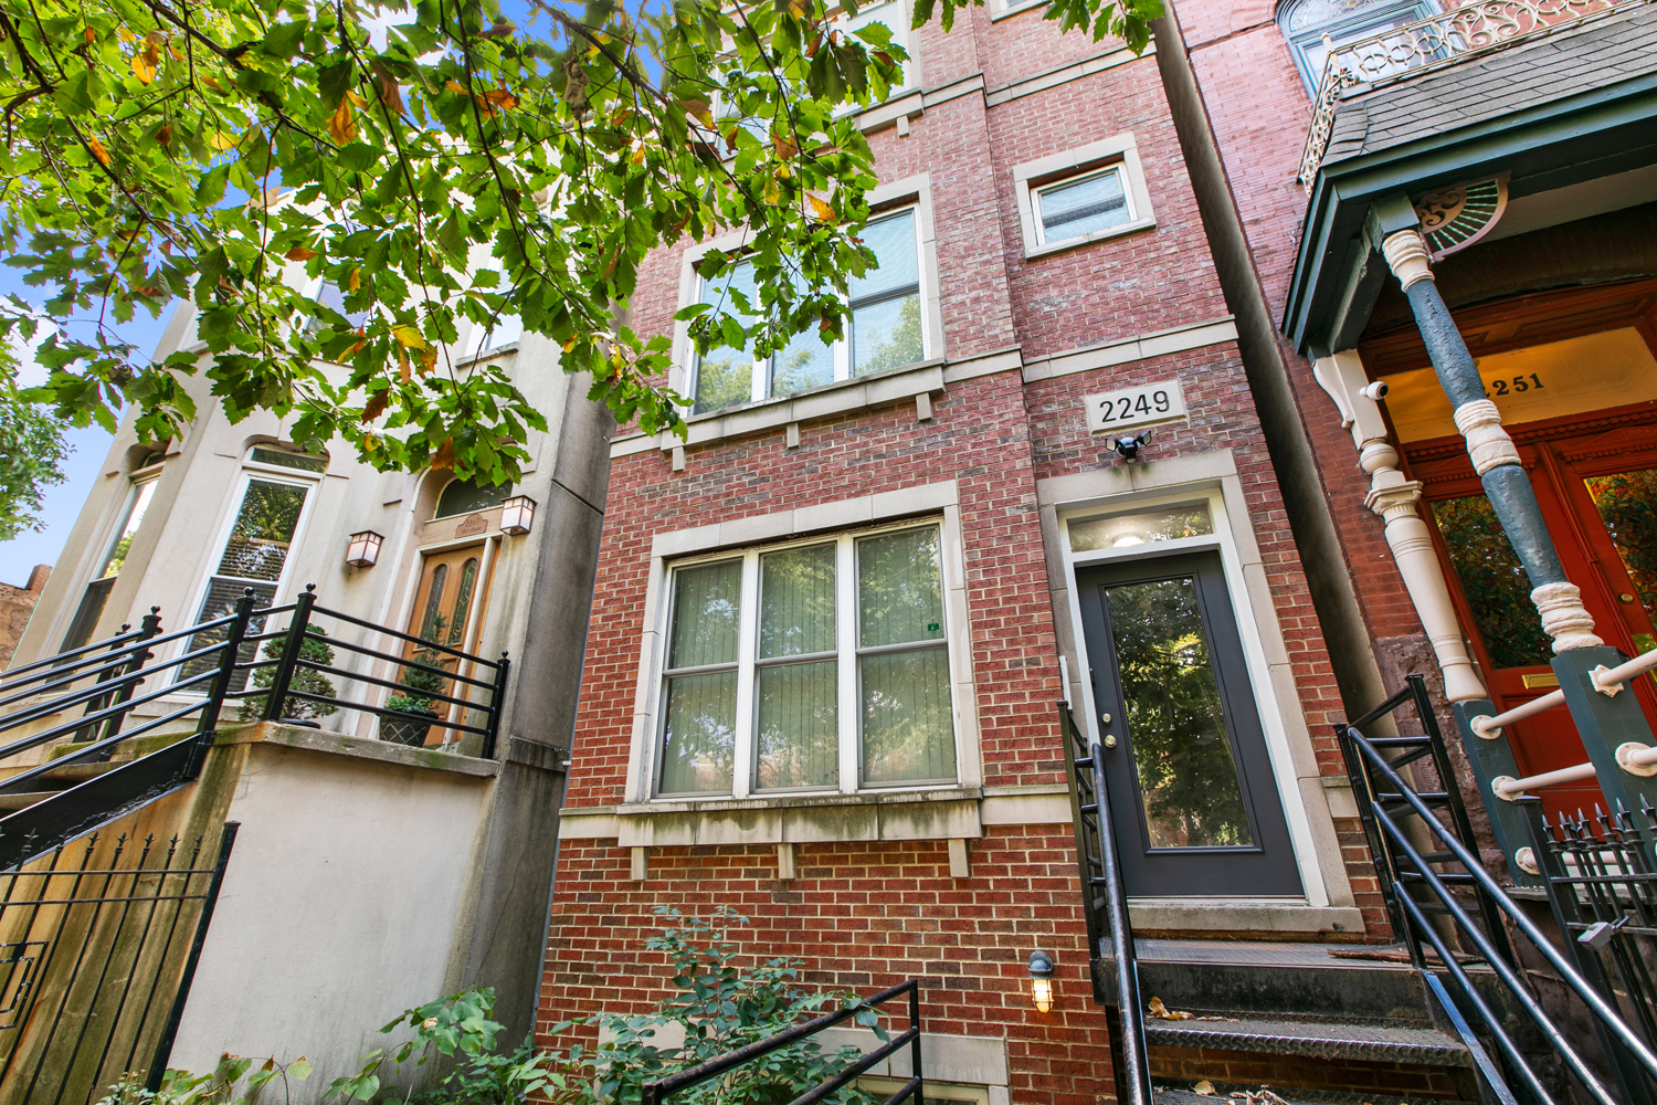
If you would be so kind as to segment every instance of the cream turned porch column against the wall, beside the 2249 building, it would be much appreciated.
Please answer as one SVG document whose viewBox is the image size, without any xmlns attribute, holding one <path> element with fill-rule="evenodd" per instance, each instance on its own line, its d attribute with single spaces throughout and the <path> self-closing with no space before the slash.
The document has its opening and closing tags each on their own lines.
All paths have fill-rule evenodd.
<svg viewBox="0 0 1657 1105">
<path fill-rule="evenodd" d="M 1488 697 L 1478 678 L 1478 668 L 1466 651 L 1461 625 L 1457 621 L 1445 583 L 1443 567 L 1433 548 L 1432 533 L 1422 520 L 1417 504 L 1422 484 L 1403 479 L 1399 470 L 1399 451 L 1387 441 L 1387 422 L 1380 408 L 1367 393 L 1369 379 L 1355 350 L 1317 358 L 1312 374 L 1341 409 L 1342 422 L 1350 427 L 1357 442 L 1357 462 L 1369 472 L 1369 495 L 1364 505 L 1387 524 L 1387 547 L 1410 593 L 1410 605 L 1422 620 L 1427 639 L 1433 646 L 1438 669 L 1445 678 L 1445 697 L 1452 702 L 1468 702 Z"/>
</svg>

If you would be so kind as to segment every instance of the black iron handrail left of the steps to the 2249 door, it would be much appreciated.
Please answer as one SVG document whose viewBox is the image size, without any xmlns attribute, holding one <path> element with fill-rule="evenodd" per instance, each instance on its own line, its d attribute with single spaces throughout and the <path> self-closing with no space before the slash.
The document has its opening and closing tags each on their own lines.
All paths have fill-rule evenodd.
<svg viewBox="0 0 1657 1105">
<path fill-rule="evenodd" d="M 1110 792 L 1105 789 L 1105 755 L 1097 741 L 1082 732 L 1069 702 L 1059 702 L 1059 726 L 1070 747 L 1070 817 L 1075 825 L 1075 861 L 1082 878 L 1087 914 L 1087 943 L 1095 954 L 1117 961 L 1117 1006 L 1122 1017 L 1122 1070 L 1117 1072 L 1117 1100 L 1122 1105 L 1152 1105 L 1150 1052 L 1145 1045 L 1145 1012 L 1140 1007 L 1138 961 L 1133 954 L 1133 926 L 1128 895 L 1122 885 L 1115 827 L 1110 822 Z"/>
</svg>

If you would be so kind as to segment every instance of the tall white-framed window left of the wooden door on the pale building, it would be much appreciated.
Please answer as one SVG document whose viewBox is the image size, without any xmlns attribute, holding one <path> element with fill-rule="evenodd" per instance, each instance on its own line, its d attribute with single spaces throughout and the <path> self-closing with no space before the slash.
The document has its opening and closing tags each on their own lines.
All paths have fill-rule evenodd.
<svg viewBox="0 0 1657 1105">
<path fill-rule="evenodd" d="M 237 601 L 249 588 L 254 591 L 254 606 L 263 608 L 273 606 L 283 588 L 292 586 L 292 552 L 315 504 L 316 480 L 326 467 L 326 457 L 273 444 L 247 451 L 234 505 L 214 543 L 212 567 L 202 585 L 194 625 L 235 613 Z M 263 620 L 255 618 L 250 631 L 258 633 L 262 626 Z M 224 638 L 224 628 L 196 633 L 186 651 L 207 648 Z M 254 646 L 249 646 L 242 659 L 252 659 L 252 654 Z M 217 663 L 212 658 L 194 659 L 181 664 L 177 678 L 191 679 L 214 666 Z M 245 683 L 245 674 L 239 683 Z M 196 684 L 191 692 L 205 694 L 205 686 Z"/>
</svg>

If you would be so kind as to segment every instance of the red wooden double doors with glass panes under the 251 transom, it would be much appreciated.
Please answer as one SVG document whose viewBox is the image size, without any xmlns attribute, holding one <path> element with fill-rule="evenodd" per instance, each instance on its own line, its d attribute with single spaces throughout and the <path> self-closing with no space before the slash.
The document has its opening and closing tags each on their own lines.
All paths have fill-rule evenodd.
<svg viewBox="0 0 1657 1105">
<path fill-rule="evenodd" d="M 1609 421 L 1609 419 L 1607 419 Z M 1596 432 L 1563 421 L 1514 434 L 1548 532 L 1566 577 L 1582 588 L 1594 631 L 1634 656 L 1657 646 L 1657 424 L 1630 419 Z M 1529 580 L 1496 524 L 1465 457 L 1415 466 L 1427 480 L 1440 553 L 1485 669 L 1490 696 L 1505 711 L 1558 684 L 1553 648 L 1529 600 Z M 1657 684 L 1635 681 L 1647 717 L 1657 724 Z M 1582 762 L 1571 714 L 1559 706 L 1508 731 L 1526 775 Z M 1538 792 L 1549 813 L 1592 812 L 1592 780 Z"/>
</svg>

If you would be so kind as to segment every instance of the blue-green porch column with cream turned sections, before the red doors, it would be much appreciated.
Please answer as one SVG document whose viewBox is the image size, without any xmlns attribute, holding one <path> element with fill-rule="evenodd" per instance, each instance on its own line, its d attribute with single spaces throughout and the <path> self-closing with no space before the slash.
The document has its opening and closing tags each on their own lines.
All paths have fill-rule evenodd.
<svg viewBox="0 0 1657 1105">
<path fill-rule="evenodd" d="M 1415 229 L 1397 230 L 1382 240 L 1380 252 L 1410 300 L 1415 325 L 1427 343 L 1433 371 L 1438 373 L 1438 384 L 1455 408 L 1455 424 L 1466 439 L 1473 470 L 1485 485 L 1485 495 L 1495 507 L 1513 552 L 1524 565 L 1524 575 L 1531 580 L 1531 601 L 1541 615 L 1543 630 L 1553 638 L 1554 653 L 1601 648 L 1604 641 L 1594 636 L 1594 618 L 1582 606 L 1582 593 L 1564 578 L 1536 492 L 1519 464 L 1519 451 L 1501 427 L 1496 404 L 1485 398 L 1485 381 L 1478 376 L 1473 355 L 1438 295 L 1427 242 Z"/>
</svg>

